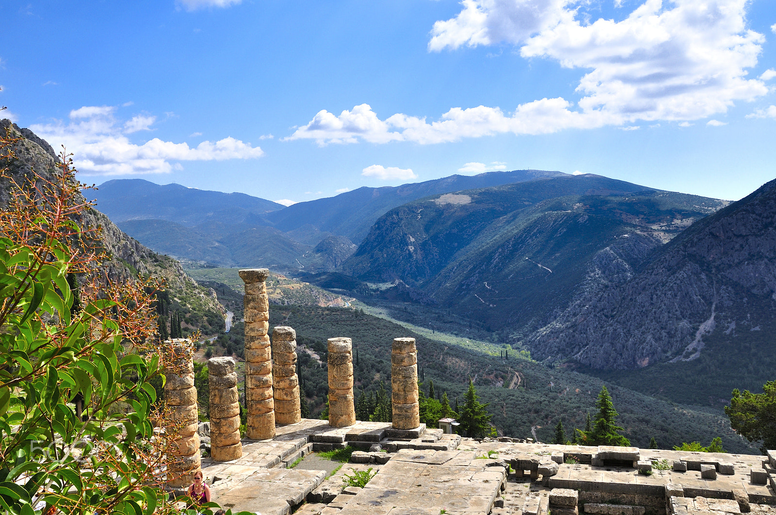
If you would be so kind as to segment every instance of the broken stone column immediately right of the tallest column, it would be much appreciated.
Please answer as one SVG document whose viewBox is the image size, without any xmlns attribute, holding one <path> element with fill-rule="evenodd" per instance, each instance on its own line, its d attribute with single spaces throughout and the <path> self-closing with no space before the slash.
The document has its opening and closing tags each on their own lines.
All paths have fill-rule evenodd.
<svg viewBox="0 0 776 515">
<path fill-rule="evenodd" d="M 299 378 L 296 376 L 296 331 L 279 326 L 272 330 L 272 387 L 275 389 L 275 423 L 302 420 Z"/>
</svg>

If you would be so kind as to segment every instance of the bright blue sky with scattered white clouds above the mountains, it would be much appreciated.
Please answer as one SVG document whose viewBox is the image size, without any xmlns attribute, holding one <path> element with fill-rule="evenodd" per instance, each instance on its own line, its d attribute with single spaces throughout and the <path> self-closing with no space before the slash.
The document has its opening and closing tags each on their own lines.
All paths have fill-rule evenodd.
<svg viewBox="0 0 776 515">
<path fill-rule="evenodd" d="M 284 204 L 517 169 L 737 200 L 776 178 L 773 0 L 0 2 L 0 116 Z"/>
</svg>

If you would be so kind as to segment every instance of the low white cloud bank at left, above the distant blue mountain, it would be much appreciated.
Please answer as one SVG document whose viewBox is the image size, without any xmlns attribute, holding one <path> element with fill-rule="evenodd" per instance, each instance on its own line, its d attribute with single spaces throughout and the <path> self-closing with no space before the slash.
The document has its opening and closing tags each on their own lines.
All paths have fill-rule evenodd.
<svg viewBox="0 0 776 515">
<path fill-rule="evenodd" d="M 223 161 L 225 159 L 252 159 L 264 152 L 233 137 L 215 143 L 203 141 L 196 147 L 188 143 L 172 143 L 154 138 L 136 144 L 126 133 L 147 130 L 153 116 L 135 116 L 121 123 L 109 105 L 84 106 L 70 112 L 64 123 L 35 124 L 29 128 L 43 137 L 54 148 L 64 145 L 74 154 L 76 167 L 85 175 L 133 175 L 168 173 L 181 169 L 175 161 Z"/>
</svg>

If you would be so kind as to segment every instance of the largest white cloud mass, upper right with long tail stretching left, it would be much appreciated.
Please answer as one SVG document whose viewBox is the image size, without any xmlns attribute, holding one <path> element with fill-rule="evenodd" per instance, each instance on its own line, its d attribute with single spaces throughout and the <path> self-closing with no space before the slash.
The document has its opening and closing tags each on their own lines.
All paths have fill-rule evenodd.
<svg viewBox="0 0 776 515">
<path fill-rule="evenodd" d="M 639 121 L 688 121 L 726 112 L 768 92 L 770 74 L 747 78 L 764 36 L 747 29 L 747 0 L 646 0 L 625 19 L 597 19 L 584 0 L 463 0 L 431 29 L 428 49 L 508 44 L 525 59 L 580 71 L 568 99 L 537 99 L 512 111 L 455 107 L 439 119 L 380 119 L 368 104 L 321 110 L 286 139 L 327 143 L 444 143 L 497 133 L 544 134 Z M 508 109 L 514 106 L 506 106 Z"/>
</svg>

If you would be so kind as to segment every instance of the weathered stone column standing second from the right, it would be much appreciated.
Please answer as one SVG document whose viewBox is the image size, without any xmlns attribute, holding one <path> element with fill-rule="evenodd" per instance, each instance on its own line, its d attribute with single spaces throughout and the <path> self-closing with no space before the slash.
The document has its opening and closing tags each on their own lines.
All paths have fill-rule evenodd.
<svg viewBox="0 0 776 515">
<path fill-rule="evenodd" d="M 353 344 L 350 338 L 329 338 L 329 425 L 355 423 L 353 403 Z"/>
</svg>

